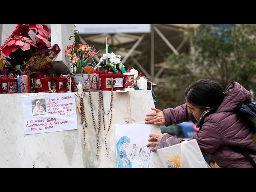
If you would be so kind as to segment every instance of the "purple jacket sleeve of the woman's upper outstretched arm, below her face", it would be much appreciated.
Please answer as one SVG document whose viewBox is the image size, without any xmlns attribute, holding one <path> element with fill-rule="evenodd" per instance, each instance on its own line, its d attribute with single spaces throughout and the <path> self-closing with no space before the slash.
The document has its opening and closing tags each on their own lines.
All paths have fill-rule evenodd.
<svg viewBox="0 0 256 192">
<path fill-rule="evenodd" d="M 176 108 L 167 108 L 163 110 L 165 116 L 165 126 L 172 124 L 179 124 L 186 121 L 192 121 L 196 123 L 196 119 L 190 113 L 188 113 L 187 104 L 180 105 Z"/>
</svg>

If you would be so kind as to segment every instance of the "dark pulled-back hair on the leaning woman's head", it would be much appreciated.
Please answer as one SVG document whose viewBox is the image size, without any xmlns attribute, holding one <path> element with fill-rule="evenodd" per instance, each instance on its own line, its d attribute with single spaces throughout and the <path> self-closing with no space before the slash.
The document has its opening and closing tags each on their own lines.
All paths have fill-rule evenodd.
<svg viewBox="0 0 256 192">
<path fill-rule="evenodd" d="M 200 79 L 192 82 L 185 90 L 186 101 L 204 109 L 218 108 L 224 99 L 222 86 L 210 79 Z"/>
</svg>

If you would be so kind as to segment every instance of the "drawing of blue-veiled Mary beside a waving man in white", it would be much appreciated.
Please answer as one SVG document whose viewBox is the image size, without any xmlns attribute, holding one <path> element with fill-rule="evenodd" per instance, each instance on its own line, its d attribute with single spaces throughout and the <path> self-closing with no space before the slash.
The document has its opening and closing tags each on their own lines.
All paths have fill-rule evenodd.
<svg viewBox="0 0 256 192">
<path fill-rule="evenodd" d="M 148 144 L 150 124 L 116 124 L 116 158 L 118 168 L 153 168 Z"/>
</svg>

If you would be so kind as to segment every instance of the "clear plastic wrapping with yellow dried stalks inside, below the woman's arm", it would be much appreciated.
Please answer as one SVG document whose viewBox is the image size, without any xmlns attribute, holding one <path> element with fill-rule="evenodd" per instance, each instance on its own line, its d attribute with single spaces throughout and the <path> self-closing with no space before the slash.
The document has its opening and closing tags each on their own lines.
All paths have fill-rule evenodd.
<svg viewBox="0 0 256 192">
<path fill-rule="evenodd" d="M 210 168 L 196 139 L 161 148 L 156 152 L 165 168 Z"/>
</svg>

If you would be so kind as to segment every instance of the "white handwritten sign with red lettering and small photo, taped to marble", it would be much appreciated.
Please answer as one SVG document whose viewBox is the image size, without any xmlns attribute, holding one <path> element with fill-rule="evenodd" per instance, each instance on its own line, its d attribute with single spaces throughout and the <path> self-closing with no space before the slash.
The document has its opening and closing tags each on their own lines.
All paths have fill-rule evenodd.
<svg viewBox="0 0 256 192">
<path fill-rule="evenodd" d="M 74 93 L 22 96 L 25 134 L 77 129 Z"/>
</svg>

